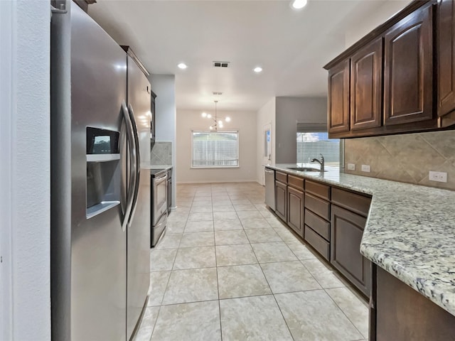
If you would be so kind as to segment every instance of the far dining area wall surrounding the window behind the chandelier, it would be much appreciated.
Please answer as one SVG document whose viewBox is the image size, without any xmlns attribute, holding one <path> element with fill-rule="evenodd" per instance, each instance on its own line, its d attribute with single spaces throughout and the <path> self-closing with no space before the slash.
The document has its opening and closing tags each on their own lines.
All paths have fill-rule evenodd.
<svg viewBox="0 0 455 341">
<path fill-rule="evenodd" d="M 205 183 L 256 180 L 256 113 L 217 110 L 218 117 L 229 116 L 223 130 L 239 131 L 238 168 L 191 168 L 191 131 L 208 130 L 211 122 L 200 116 L 202 110 L 177 110 L 178 183 Z M 210 111 L 206 111 L 210 112 Z M 213 114 L 213 113 L 212 113 Z"/>
</svg>

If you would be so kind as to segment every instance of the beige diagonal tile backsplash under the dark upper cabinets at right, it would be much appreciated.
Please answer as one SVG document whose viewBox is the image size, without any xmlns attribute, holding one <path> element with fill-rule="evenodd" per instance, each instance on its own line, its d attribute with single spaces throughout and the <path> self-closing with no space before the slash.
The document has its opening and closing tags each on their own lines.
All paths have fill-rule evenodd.
<svg viewBox="0 0 455 341">
<path fill-rule="evenodd" d="M 355 163 L 355 171 L 348 171 Z M 361 171 L 370 165 L 371 172 Z M 455 190 L 455 131 L 346 139 L 345 173 Z M 447 183 L 428 179 L 447 173 Z"/>
</svg>

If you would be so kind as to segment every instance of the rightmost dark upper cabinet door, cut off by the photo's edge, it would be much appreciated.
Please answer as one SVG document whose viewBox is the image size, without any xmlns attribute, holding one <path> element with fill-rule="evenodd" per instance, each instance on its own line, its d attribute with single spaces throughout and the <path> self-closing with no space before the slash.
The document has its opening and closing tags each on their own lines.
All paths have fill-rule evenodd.
<svg viewBox="0 0 455 341">
<path fill-rule="evenodd" d="M 438 6 L 438 116 L 455 110 L 455 3 Z"/>
</svg>

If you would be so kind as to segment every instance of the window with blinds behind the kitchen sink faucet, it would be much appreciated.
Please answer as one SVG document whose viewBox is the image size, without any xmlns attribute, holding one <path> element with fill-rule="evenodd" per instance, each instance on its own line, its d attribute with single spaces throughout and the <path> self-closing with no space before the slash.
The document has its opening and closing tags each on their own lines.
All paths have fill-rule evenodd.
<svg viewBox="0 0 455 341">
<path fill-rule="evenodd" d="M 340 166 L 343 144 L 340 139 L 328 139 L 327 126 L 297 124 L 297 163 L 309 163 L 323 155 L 326 166 Z"/>
</svg>

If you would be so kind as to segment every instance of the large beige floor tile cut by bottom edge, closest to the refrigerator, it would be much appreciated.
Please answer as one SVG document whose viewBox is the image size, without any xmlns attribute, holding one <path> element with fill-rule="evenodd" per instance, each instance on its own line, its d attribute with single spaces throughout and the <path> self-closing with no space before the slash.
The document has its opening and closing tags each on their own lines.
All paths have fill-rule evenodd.
<svg viewBox="0 0 455 341">
<path fill-rule="evenodd" d="M 221 340 L 218 301 L 162 306 L 151 340 Z"/>
</svg>

